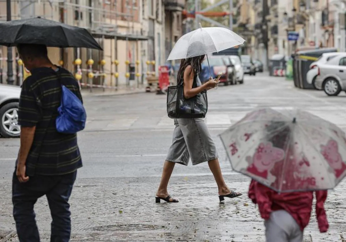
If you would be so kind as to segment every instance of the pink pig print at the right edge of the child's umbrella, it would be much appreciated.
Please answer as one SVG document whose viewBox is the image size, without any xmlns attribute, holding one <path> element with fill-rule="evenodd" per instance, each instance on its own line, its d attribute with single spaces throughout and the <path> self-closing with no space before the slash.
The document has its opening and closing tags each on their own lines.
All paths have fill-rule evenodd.
<svg viewBox="0 0 346 242">
<path fill-rule="evenodd" d="M 338 151 L 338 143 L 331 139 L 327 145 L 321 145 L 321 154 L 327 160 L 330 167 L 333 168 L 335 177 L 339 178 L 346 170 L 346 164 Z"/>
</svg>

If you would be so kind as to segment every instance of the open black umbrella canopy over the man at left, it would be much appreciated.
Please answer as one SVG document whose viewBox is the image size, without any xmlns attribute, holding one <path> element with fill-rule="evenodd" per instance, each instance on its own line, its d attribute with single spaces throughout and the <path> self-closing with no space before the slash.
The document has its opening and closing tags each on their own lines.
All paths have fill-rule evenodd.
<svg viewBox="0 0 346 242">
<path fill-rule="evenodd" d="M 0 23 L 0 45 L 17 46 L 18 44 L 102 50 L 88 30 L 40 17 Z"/>
</svg>

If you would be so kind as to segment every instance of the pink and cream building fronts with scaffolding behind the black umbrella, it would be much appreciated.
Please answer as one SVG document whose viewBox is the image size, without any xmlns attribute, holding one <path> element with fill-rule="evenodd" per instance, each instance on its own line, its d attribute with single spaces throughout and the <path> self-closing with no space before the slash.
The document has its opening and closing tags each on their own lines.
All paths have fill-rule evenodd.
<svg viewBox="0 0 346 242">
<path fill-rule="evenodd" d="M 40 16 L 91 32 L 103 52 L 48 48 L 54 63 L 71 72 L 82 72 L 81 83 L 85 86 L 144 84 L 147 72 L 157 72 L 158 65 L 165 62 L 165 11 L 161 0 L 12 0 L 11 10 L 12 20 Z M 5 1 L 0 2 L 0 21 L 6 21 Z M 16 56 L 14 48 L 13 56 Z M 7 78 L 6 58 L 7 48 L 0 47 L 3 80 Z M 78 58 L 82 60 L 79 66 L 74 63 Z M 86 63 L 89 59 L 94 61 L 92 67 Z M 13 69 L 18 69 L 16 62 Z M 88 77 L 90 72 L 94 74 L 92 80 Z"/>
</svg>

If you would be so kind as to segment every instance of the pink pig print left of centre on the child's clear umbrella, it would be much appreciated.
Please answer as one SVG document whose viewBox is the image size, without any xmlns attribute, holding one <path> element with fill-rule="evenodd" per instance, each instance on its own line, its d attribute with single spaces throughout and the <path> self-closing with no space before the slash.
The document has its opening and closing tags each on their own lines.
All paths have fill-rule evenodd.
<svg viewBox="0 0 346 242">
<path fill-rule="evenodd" d="M 273 147 L 270 142 L 260 143 L 254 157 L 246 158 L 250 164 L 246 170 L 253 175 L 267 179 L 268 171 L 273 168 L 275 162 L 281 161 L 284 157 L 284 150 Z"/>
</svg>

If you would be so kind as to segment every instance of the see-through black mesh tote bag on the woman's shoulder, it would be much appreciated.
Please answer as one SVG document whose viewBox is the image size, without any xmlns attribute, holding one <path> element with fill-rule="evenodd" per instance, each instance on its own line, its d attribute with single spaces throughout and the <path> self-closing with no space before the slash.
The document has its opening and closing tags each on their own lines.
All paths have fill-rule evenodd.
<svg viewBox="0 0 346 242">
<path fill-rule="evenodd" d="M 197 87 L 197 75 L 193 78 L 192 88 Z M 184 97 L 184 80 L 181 77 L 176 86 L 169 86 L 167 93 L 167 114 L 171 119 L 204 118 L 208 111 L 207 91 L 194 97 Z"/>
</svg>

